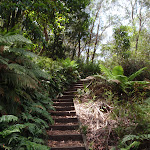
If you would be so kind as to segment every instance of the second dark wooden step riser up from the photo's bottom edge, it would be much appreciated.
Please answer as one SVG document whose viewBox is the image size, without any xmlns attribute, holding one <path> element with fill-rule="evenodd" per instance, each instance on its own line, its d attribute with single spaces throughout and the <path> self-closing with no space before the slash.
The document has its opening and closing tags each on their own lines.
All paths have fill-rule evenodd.
<svg viewBox="0 0 150 150">
<path fill-rule="evenodd" d="M 49 135 L 49 139 L 53 141 L 83 141 L 81 134 L 71 134 L 71 135 Z"/>
</svg>

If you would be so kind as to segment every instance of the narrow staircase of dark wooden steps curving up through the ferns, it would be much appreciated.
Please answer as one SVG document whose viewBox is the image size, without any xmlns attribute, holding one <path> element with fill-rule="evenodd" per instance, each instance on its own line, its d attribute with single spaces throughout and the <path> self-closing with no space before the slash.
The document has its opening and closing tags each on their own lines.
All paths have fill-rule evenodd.
<svg viewBox="0 0 150 150">
<path fill-rule="evenodd" d="M 87 80 L 80 80 L 64 92 L 62 97 L 53 99 L 55 111 L 51 111 L 54 125 L 47 131 L 48 146 L 51 150 L 88 150 L 85 138 L 80 133 L 79 121 L 75 112 L 73 98 L 77 89 L 83 88 Z"/>
</svg>

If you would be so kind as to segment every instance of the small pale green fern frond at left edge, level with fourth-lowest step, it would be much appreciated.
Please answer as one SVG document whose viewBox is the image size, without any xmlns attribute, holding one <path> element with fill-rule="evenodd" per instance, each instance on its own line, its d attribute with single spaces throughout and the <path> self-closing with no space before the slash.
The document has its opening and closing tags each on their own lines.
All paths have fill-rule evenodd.
<svg viewBox="0 0 150 150">
<path fill-rule="evenodd" d="M 4 123 L 4 122 L 11 122 L 11 121 L 18 121 L 18 117 L 14 116 L 14 115 L 3 115 L 2 117 L 0 117 L 0 123 Z"/>
</svg>

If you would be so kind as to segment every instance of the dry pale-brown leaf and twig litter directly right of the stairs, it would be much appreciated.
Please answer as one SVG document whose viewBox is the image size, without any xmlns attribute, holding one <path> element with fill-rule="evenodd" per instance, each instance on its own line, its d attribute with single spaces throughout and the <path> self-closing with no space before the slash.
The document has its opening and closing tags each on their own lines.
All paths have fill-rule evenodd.
<svg viewBox="0 0 150 150">
<path fill-rule="evenodd" d="M 94 101 L 89 94 L 78 96 L 74 103 L 89 149 L 110 150 L 115 147 L 119 139 L 114 132 L 117 122 L 110 117 L 111 106 L 103 99 Z"/>
</svg>

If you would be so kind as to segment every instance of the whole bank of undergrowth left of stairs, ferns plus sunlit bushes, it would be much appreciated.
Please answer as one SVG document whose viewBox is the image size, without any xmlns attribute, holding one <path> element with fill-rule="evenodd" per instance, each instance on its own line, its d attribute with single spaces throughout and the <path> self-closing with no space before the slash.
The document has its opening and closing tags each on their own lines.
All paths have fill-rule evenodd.
<svg viewBox="0 0 150 150">
<path fill-rule="evenodd" d="M 0 149 L 48 150 L 51 99 L 78 80 L 77 64 L 39 57 L 18 42 L 30 43 L 21 35 L 0 36 Z"/>
</svg>

